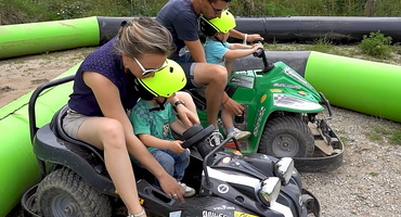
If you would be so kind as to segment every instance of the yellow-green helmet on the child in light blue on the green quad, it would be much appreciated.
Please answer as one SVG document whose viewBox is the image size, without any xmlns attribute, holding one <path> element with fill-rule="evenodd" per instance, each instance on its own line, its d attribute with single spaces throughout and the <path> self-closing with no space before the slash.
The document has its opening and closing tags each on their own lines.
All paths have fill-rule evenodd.
<svg viewBox="0 0 401 217">
<path fill-rule="evenodd" d="M 200 16 L 200 30 L 206 36 L 214 36 L 216 33 L 229 33 L 236 26 L 233 14 L 224 10 L 220 17 L 207 20 Z"/>
</svg>

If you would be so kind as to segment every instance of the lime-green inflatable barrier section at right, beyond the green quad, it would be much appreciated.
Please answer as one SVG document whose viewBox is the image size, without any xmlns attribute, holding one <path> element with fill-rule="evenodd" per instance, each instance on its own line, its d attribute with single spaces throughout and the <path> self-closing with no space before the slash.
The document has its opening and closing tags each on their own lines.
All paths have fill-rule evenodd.
<svg viewBox="0 0 401 217">
<path fill-rule="evenodd" d="M 333 105 L 401 122 L 401 66 L 311 52 L 305 77 Z"/>
</svg>

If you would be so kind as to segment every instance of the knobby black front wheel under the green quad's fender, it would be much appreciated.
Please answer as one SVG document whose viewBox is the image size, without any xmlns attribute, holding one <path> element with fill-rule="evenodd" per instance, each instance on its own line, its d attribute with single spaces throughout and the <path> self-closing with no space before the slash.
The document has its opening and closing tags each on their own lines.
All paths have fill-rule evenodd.
<svg viewBox="0 0 401 217">
<path fill-rule="evenodd" d="M 306 123 L 293 116 L 275 117 L 263 129 L 259 153 L 277 157 L 313 156 L 314 139 Z"/>
</svg>

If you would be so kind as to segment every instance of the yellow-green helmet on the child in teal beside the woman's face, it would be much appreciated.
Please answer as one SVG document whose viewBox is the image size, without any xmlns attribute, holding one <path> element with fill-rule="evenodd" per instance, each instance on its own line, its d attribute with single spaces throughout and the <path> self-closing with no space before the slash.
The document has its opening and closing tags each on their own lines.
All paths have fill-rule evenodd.
<svg viewBox="0 0 401 217">
<path fill-rule="evenodd" d="M 155 73 L 155 76 L 134 81 L 134 88 L 144 100 L 155 97 L 169 98 L 186 85 L 185 73 L 182 67 L 172 60 L 166 60 L 167 66 Z"/>
</svg>

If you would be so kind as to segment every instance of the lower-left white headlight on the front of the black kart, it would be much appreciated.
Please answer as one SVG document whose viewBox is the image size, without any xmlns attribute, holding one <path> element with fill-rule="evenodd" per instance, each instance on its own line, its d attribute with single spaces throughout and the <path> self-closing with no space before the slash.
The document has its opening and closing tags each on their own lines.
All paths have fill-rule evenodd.
<svg viewBox="0 0 401 217">
<path fill-rule="evenodd" d="M 277 200 L 281 186 L 277 177 L 269 177 L 260 182 L 258 196 L 264 206 L 271 207 L 275 200 Z"/>
</svg>

